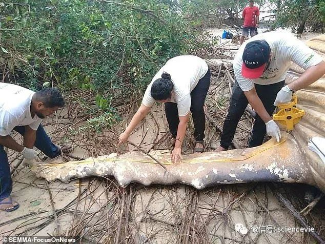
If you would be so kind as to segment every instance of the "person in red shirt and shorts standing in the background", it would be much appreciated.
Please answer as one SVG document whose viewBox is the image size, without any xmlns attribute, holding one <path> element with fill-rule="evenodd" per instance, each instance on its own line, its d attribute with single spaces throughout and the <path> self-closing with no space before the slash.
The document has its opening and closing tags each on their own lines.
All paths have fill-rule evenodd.
<svg viewBox="0 0 325 244">
<path fill-rule="evenodd" d="M 249 0 L 249 6 L 247 6 L 242 11 L 242 18 L 244 19 L 244 24 L 242 26 L 242 34 L 240 36 L 240 45 L 243 43 L 245 36 L 248 37 L 248 31 L 251 37 L 256 35 L 255 32 L 258 27 L 259 21 L 259 9 L 254 6 L 254 0 Z"/>
</svg>

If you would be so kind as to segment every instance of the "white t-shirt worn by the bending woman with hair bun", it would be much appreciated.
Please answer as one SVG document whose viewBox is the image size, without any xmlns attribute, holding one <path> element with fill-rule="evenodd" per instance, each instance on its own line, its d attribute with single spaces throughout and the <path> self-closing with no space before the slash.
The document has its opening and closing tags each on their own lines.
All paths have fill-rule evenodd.
<svg viewBox="0 0 325 244">
<path fill-rule="evenodd" d="M 184 55 L 169 59 L 151 80 L 142 104 L 151 107 L 155 103 L 150 94 L 151 86 L 156 79 L 161 78 L 163 72 L 167 72 L 174 84 L 171 102 L 177 103 L 179 116 L 187 115 L 191 108 L 191 91 L 194 90 L 199 79 L 205 76 L 207 71 L 207 63 L 197 56 Z"/>
</svg>

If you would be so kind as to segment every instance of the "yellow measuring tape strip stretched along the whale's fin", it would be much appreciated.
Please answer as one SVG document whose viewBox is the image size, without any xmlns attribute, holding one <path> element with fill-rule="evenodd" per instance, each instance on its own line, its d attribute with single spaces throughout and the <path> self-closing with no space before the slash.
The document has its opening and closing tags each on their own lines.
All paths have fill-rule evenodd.
<svg viewBox="0 0 325 244">
<path fill-rule="evenodd" d="M 246 160 L 248 158 L 251 158 L 253 156 L 256 156 L 258 154 L 260 154 L 261 152 L 267 151 L 271 148 L 277 147 L 279 145 L 281 145 L 282 143 L 284 143 L 286 141 L 285 138 L 283 138 L 279 143 L 275 143 L 271 146 L 261 146 L 258 149 L 255 149 L 254 151 L 248 153 L 247 155 L 240 155 L 238 157 L 234 157 L 234 158 L 219 158 L 219 159 L 191 159 L 191 160 L 182 160 L 182 163 L 187 163 L 187 164 L 197 164 L 200 162 L 229 162 L 229 161 L 243 161 Z M 243 149 L 244 150 L 244 149 Z M 127 159 L 127 158 L 107 158 L 104 160 L 100 160 L 99 162 L 112 162 L 112 161 L 129 161 L 129 162 L 144 162 L 146 164 L 158 164 L 156 161 L 152 160 L 152 161 L 147 161 L 147 160 L 135 160 L 135 159 Z M 93 161 L 93 162 L 98 162 L 98 160 Z M 83 160 L 83 161 L 70 161 L 69 164 L 89 164 L 90 160 Z M 172 165 L 171 162 L 160 162 L 162 165 Z M 47 164 L 46 166 L 49 167 L 54 167 L 54 166 L 62 166 L 63 164 Z M 43 165 L 45 166 L 45 165 Z"/>
</svg>

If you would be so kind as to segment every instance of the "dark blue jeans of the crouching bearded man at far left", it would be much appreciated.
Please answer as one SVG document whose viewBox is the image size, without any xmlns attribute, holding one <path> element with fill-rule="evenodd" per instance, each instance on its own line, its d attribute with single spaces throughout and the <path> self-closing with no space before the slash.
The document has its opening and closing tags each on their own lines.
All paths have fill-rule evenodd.
<svg viewBox="0 0 325 244">
<path fill-rule="evenodd" d="M 14 130 L 23 136 L 25 134 L 25 126 L 17 126 Z M 54 158 L 61 153 L 60 149 L 52 143 L 41 125 L 36 131 L 36 141 L 34 146 L 50 158 Z M 8 157 L 4 150 L 4 146 L 0 145 L 0 201 L 9 197 L 11 191 L 12 180 Z"/>
</svg>

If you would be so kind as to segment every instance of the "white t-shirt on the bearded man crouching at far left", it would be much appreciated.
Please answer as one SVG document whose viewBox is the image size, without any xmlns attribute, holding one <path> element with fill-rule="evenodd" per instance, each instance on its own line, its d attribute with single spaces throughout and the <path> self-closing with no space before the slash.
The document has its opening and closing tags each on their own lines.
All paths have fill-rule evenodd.
<svg viewBox="0 0 325 244">
<path fill-rule="evenodd" d="M 36 114 L 32 118 L 30 104 L 35 92 L 0 82 L 0 135 L 6 136 L 16 126 L 28 125 L 37 130 L 42 122 Z"/>
</svg>

